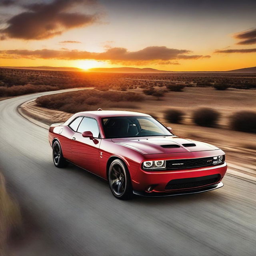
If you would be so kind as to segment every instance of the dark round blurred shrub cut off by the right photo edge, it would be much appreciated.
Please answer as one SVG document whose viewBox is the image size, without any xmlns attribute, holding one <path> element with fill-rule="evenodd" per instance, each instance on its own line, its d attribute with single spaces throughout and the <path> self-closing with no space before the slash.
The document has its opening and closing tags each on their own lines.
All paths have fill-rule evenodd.
<svg viewBox="0 0 256 256">
<path fill-rule="evenodd" d="M 256 112 L 239 111 L 230 117 L 230 127 L 241 132 L 256 132 Z"/>
</svg>

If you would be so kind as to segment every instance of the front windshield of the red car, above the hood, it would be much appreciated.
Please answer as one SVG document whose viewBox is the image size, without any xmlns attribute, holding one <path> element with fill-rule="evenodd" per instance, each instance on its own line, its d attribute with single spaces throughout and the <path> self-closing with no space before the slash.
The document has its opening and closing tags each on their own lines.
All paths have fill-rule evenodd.
<svg viewBox="0 0 256 256">
<path fill-rule="evenodd" d="M 160 122 L 148 116 L 115 116 L 102 118 L 106 138 L 172 136 Z"/>
</svg>

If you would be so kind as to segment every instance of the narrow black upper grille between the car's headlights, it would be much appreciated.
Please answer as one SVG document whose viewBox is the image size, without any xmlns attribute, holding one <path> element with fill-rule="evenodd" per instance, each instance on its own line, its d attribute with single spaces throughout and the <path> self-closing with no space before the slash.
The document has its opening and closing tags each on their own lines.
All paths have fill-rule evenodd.
<svg viewBox="0 0 256 256">
<path fill-rule="evenodd" d="M 224 160 L 223 160 L 224 162 Z M 213 165 L 213 157 L 167 160 L 166 169 L 188 169 Z"/>
</svg>

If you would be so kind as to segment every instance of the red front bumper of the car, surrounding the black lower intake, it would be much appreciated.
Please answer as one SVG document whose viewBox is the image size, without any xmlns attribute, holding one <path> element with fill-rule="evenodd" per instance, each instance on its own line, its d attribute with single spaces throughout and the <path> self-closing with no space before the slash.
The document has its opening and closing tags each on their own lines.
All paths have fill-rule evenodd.
<svg viewBox="0 0 256 256">
<path fill-rule="evenodd" d="M 227 164 L 218 165 L 218 166 L 208 166 L 203 168 L 193 168 L 193 169 L 184 169 L 184 170 L 164 170 L 164 171 L 145 171 L 140 168 L 138 170 L 136 177 L 132 179 L 132 187 L 134 190 L 134 194 L 145 194 L 146 196 L 150 196 L 150 194 L 158 193 L 160 195 L 177 195 L 177 194 L 190 194 L 192 193 L 199 193 L 216 189 L 221 187 L 220 181 L 226 174 Z M 175 189 L 169 190 L 166 189 L 166 185 L 171 180 L 178 180 L 178 179 L 189 179 L 189 178 L 198 178 L 203 176 L 211 176 L 214 174 L 219 175 L 219 179 L 214 182 L 214 184 L 205 184 L 204 186 L 198 187 L 189 187 L 184 189 Z M 219 185 L 218 185 L 219 184 Z M 151 191 L 147 191 L 149 186 L 153 186 Z M 223 186 L 223 184 L 222 184 Z M 195 192 L 194 190 L 198 190 Z M 193 192 L 194 191 L 194 192 Z"/>
</svg>

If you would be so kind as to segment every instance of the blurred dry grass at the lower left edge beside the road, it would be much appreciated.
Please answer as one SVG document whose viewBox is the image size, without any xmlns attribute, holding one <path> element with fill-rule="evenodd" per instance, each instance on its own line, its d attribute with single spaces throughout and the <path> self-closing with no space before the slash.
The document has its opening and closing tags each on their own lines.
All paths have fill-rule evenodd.
<svg viewBox="0 0 256 256">
<path fill-rule="evenodd" d="M 4 176 L 0 173 L 0 255 L 6 255 L 8 238 L 21 227 L 18 203 L 6 191 Z"/>
</svg>

